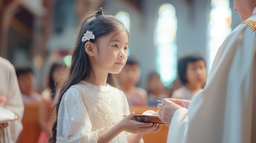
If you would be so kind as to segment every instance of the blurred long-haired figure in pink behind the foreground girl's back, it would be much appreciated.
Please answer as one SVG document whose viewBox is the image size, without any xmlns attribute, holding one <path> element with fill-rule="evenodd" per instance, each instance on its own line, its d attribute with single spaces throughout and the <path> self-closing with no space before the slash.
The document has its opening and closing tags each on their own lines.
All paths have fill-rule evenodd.
<svg viewBox="0 0 256 143">
<path fill-rule="evenodd" d="M 58 86 L 65 77 L 66 65 L 62 61 L 57 61 L 52 64 L 49 75 L 48 85 L 42 92 L 42 102 L 39 108 L 39 120 L 41 133 L 38 139 L 38 143 L 48 143 L 49 137 L 52 136 L 52 120 L 55 115 L 55 110 L 51 114 L 51 109 L 54 105 L 54 100 L 58 97 Z"/>
</svg>

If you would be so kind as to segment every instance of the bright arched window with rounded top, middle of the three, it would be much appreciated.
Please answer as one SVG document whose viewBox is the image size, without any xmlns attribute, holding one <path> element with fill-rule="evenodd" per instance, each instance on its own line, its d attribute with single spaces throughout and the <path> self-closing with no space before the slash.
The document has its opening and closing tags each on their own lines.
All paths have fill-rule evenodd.
<svg viewBox="0 0 256 143">
<path fill-rule="evenodd" d="M 177 69 L 177 17 L 175 7 L 162 4 L 158 10 L 155 42 L 157 45 L 157 72 L 168 86 L 176 78 Z"/>
</svg>

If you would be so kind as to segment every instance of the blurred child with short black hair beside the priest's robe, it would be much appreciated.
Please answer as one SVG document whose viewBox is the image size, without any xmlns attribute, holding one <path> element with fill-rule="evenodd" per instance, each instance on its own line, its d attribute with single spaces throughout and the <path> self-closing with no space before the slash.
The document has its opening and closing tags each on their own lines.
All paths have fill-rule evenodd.
<svg viewBox="0 0 256 143">
<path fill-rule="evenodd" d="M 173 92 L 171 98 L 191 100 L 202 90 L 206 82 L 207 69 L 199 53 L 187 53 L 178 60 L 178 75 L 183 86 Z"/>
</svg>

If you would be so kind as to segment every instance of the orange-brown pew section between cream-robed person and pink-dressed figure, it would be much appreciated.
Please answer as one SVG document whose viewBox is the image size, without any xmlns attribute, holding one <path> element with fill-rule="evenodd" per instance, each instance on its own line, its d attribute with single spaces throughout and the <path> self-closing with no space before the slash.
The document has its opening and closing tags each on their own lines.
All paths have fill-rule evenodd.
<svg viewBox="0 0 256 143">
<path fill-rule="evenodd" d="M 24 103 L 23 130 L 20 134 L 20 143 L 37 143 L 41 132 L 38 117 L 39 106 L 40 103 Z"/>
</svg>

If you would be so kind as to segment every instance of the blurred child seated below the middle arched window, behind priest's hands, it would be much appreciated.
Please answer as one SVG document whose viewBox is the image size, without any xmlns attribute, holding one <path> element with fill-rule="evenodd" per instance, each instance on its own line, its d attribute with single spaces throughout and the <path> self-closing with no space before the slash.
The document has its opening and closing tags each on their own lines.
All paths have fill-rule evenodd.
<svg viewBox="0 0 256 143">
<path fill-rule="evenodd" d="M 159 102 L 164 98 L 170 98 L 170 90 L 168 90 L 162 81 L 160 75 L 157 72 L 150 73 L 148 75 L 147 90 L 148 90 L 148 106 L 157 106 Z"/>
</svg>

